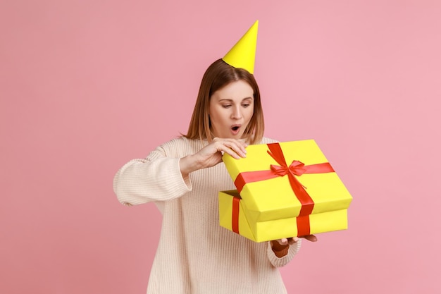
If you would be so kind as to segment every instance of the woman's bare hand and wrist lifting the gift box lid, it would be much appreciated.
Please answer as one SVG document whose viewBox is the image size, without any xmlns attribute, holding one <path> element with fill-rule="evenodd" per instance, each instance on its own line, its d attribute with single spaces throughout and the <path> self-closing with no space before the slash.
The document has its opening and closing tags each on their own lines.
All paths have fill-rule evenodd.
<svg viewBox="0 0 441 294">
<path fill-rule="evenodd" d="M 216 164 L 222 162 L 223 153 L 228 153 L 235 159 L 246 157 L 247 150 L 245 148 L 247 146 L 244 140 L 231 138 L 221 139 L 216 137 L 209 145 L 200 149 L 199 152 L 180 159 L 182 176 L 187 176 L 192 171 L 197 171 L 198 169 L 216 166 Z"/>
</svg>

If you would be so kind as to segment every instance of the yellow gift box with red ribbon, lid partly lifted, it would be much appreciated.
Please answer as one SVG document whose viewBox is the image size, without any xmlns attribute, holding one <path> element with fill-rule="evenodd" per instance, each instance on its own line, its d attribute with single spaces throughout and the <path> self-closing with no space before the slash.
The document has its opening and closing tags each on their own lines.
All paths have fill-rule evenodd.
<svg viewBox="0 0 441 294">
<path fill-rule="evenodd" d="M 224 154 L 237 190 L 219 192 L 221 226 L 256 242 L 347 228 L 352 197 L 314 140 Z"/>
</svg>

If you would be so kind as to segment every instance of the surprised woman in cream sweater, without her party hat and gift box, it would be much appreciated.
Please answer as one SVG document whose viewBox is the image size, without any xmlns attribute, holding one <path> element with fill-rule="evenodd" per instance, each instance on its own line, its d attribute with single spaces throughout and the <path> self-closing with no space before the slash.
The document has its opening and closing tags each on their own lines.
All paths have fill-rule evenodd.
<svg viewBox="0 0 441 294">
<path fill-rule="evenodd" d="M 246 157 L 247 145 L 268 142 L 254 76 L 219 59 L 202 78 L 187 135 L 118 171 L 120 202 L 154 202 L 163 214 L 147 293 L 286 293 L 277 267 L 299 239 L 254 243 L 218 224 L 218 191 L 235 189 L 223 152 Z"/>
</svg>

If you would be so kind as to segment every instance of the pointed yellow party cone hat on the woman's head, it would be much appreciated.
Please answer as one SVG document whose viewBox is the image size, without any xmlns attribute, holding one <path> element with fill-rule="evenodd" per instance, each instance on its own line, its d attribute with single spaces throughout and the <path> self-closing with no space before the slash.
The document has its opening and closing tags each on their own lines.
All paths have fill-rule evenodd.
<svg viewBox="0 0 441 294">
<path fill-rule="evenodd" d="M 257 27 L 259 20 L 251 25 L 245 35 L 223 56 L 223 61 L 235 68 L 244 68 L 254 73 L 254 59 L 256 58 Z"/>
</svg>

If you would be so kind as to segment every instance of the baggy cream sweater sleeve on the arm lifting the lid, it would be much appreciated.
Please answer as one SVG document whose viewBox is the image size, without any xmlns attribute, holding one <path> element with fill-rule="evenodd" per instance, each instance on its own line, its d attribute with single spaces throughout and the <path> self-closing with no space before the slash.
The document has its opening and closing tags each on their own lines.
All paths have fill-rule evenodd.
<svg viewBox="0 0 441 294">
<path fill-rule="evenodd" d="M 133 159 L 121 167 L 113 178 L 113 191 L 125 205 L 181 197 L 192 190 L 192 183 L 182 177 L 179 161 L 157 147 L 147 159 Z"/>
</svg>

